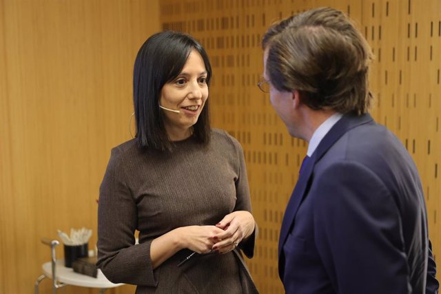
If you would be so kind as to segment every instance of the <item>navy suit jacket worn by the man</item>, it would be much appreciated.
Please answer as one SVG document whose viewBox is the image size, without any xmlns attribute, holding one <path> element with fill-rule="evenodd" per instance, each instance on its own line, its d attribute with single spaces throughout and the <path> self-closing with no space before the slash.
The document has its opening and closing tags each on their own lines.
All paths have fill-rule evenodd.
<svg viewBox="0 0 441 294">
<path fill-rule="evenodd" d="M 420 177 L 369 114 L 343 116 L 302 168 L 279 240 L 289 294 L 438 293 Z"/>
</svg>

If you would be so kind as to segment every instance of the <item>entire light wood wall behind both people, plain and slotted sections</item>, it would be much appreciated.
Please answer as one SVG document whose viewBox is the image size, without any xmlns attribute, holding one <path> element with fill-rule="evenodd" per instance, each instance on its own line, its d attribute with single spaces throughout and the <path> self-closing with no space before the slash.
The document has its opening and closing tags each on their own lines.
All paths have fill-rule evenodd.
<svg viewBox="0 0 441 294">
<path fill-rule="evenodd" d="M 161 28 L 194 34 L 211 56 L 213 123 L 243 144 L 260 227 L 249 267 L 261 293 L 283 293 L 278 233 L 307 146 L 289 137 L 256 87 L 260 39 L 272 21 L 318 6 L 349 13 L 372 46 L 372 114 L 416 160 L 438 257 L 438 0 L 0 0 L 0 293 L 32 293 L 49 256 L 41 237 L 84 226 L 96 242 L 95 199 L 110 148 L 130 138 L 134 56 L 160 28 L 159 15 Z M 41 286 L 50 293 L 48 282 Z"/>
</svg>

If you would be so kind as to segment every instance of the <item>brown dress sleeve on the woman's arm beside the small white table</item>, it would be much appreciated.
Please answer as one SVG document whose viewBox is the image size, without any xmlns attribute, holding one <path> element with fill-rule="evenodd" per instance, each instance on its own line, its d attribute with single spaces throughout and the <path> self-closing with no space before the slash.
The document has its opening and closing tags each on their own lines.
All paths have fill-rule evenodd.
<svg viewBox="0 0 441 294">
<path fill-rule="evenodd" d="M 136 244 L 136 203 L 125 185 L 125 173 L 118 149 L 112 155 L 99 191 L 98 262 L 105 277 L 114 283 L 157 286 L 150 244 Z"/>
</svg>

